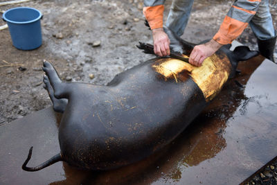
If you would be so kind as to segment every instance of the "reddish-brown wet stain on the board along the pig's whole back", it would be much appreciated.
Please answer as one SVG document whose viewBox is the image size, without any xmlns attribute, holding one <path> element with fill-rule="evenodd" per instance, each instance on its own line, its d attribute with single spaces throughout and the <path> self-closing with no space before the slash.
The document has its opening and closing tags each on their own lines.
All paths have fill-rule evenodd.
<svg viewBox="0 0 277 185">
<path fill-rule="evenodd" d="M 222 92 L 175 141 L 136 164 L 109 171 L 84 171 L 63 163 L 64 177 L 51 184 L 164 184 L 179 182 L 182 173 L 212 159 L 226 148 L 224 132 L 234 112 L 249 102 L 244 87 L 261 64 L 257 57 L 241 62 L 241 73 L 226 83 Z"/>
</svg>

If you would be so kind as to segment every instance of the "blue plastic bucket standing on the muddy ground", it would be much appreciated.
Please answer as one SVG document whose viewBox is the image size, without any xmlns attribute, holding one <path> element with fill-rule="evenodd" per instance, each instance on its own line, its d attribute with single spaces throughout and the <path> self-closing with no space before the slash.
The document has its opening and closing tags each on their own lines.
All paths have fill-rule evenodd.
<svg viewBox="0 0 277 185">
<path fill-rule="evenodd" d="M 12 44 L 21 50 L 37 49 L 42 45 L 42 13 L 35 8 L 17 7 L 3 13 L 12 37 Z"/>
</svg>

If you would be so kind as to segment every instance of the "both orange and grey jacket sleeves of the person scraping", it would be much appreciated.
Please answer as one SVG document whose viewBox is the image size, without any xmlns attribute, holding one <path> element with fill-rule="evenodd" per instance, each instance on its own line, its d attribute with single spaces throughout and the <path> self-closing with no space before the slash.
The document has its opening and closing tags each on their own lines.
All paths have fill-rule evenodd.
<svg viewBox="0 0 277 185">
<path fill-rule="evenodd" d="M 230 44 L 237 38 L 256 14 L 261 0 L 236 0 L 230 8 L 215 39 L 220 44 Z M 163 27 L 163 3 L 165 0 L 145 0 L 143 15 L 151 29 Z"/>
</svg>

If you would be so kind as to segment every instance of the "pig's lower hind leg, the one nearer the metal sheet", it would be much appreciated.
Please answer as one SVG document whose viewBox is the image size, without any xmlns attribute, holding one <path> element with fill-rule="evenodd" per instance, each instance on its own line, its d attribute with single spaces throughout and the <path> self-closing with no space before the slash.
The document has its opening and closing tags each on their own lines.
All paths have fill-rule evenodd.
<svg viewBox="0 0 277 185">
<path fill-rule="evenodd" d="M 49 82 L 49 78 L 48 76 L 44 75 L 44 89 L 46 89 L 46 91 L 48 91 L 48 95 L 53 103 L 53 109 L 55 110 L 55 112 L 64 112 L 65 107 L 68 103 L 68 100 L 65 98 L 62 99 L 57 99 L 54 96 L 54 89 L 51 86 L 50 82 Z"/>
</svg>

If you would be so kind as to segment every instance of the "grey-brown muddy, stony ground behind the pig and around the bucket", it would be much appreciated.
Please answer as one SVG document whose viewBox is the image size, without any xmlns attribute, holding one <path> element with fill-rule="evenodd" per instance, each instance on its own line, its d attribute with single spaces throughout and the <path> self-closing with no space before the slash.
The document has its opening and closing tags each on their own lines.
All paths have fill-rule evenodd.
<svg viewBox="0 0 277 185">
<path fill-rule="evenodd" d="M 170 3 L 166 1 L 166 12 Z M 213 37 L 231 3 L 195 0 L 182 37 L 195 43 Z M 33 51 L 19 51 L 12 46 L 8 29 L 0 31 L 0 124 L 51 106 L 42 84 L 43 60 L 52 62 L 63 80 L 105 85 L 117 73 L 153 58 L 136 48 L 139 41 L 152 43 L 150 30 L 144 26 L 142 0 L 37 0 L 0 6 L 0 10 L 17 6 L 43 13 L 43 44 Z M 275 26 L 276 10 L 272 1 Z M 238 40 L 256 49 L 250 28 Z M 95 42 L 100 46 L 93 47 Z"/>
</svg>

